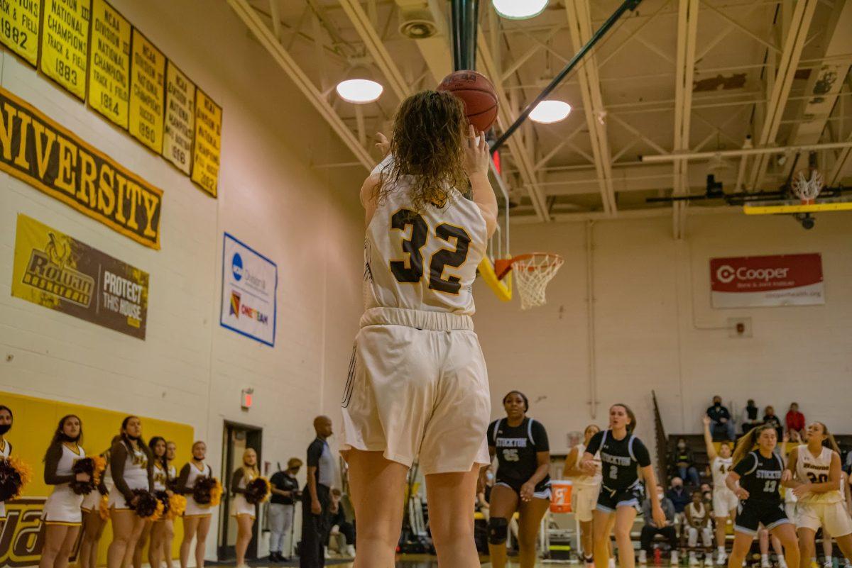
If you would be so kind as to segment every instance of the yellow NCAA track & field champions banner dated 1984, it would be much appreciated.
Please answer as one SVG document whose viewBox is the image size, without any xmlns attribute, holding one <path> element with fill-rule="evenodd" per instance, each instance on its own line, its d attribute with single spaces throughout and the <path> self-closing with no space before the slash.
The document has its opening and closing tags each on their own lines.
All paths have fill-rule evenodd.
<svg viewBox="0 0 852 568">
<path fill-rule="evenodd" d="M 127 128 L 130 100 L 130 22 L 104 0 L 92 3 L 89 106 Z"/>
</svg>

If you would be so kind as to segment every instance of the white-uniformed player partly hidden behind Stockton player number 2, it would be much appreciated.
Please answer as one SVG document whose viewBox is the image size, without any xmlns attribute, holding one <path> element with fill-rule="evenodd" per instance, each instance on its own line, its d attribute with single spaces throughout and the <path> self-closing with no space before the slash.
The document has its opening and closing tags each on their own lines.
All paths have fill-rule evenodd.
<svg viewBox="0 0 852 568">
<path fill-rule="evenodd" d="M 597 452 L 592 460 L 595 464 L 595 474 L 586 474 L 580 468 L 580 462 L 583 459 L 586 446 L 589 446 L 592 436 L 600 431 L 601 429 L 596 424 L 586 426 L 583 443 L 571 448 L 571 452 L 568 452 L 568 456 L 565 458 L 565 463 L 568 464 L 565 474 L 571 478 L 572 482 L 571 510 L 573 510 L 574 517 L 577 518 L 580 524 L 580 544 L 583 547 L 583 558 L 585 559 L 587 568 L 590 568 L 595 561 L 592 556 L 595 549 L 592 544 L 592 519 L 595 515 L 597 496 L 601 492 L 601 482 L 603 480 L 601 474 L 601 452 Z"/>
</svg>

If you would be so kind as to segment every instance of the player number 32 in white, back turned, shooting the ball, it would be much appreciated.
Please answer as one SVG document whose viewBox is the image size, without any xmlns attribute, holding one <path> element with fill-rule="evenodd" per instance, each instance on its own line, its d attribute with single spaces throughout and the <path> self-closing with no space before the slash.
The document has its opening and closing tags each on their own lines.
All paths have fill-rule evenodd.
<svg viewBox="0 0 852 568">
<path fill-rule="evenodd" d="M 497 226 L 491 157 L 461 100 L 436 91 L 401 103 L 389 151 L 360 190 L 366 311 L 342 401 L 355 567 L 393 565 L 417 457 L 439 564 L 479 566 L 470 503 L 491 397 L 471 287 Z"/>
</svg>

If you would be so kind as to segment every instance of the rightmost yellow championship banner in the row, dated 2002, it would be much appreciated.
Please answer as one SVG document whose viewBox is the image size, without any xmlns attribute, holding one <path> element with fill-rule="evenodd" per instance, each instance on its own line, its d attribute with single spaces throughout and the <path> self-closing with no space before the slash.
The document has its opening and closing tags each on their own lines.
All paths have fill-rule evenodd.
<svg viewBox="0 0 852 568">
<path fill-rule="evenodd" d="M 219 151 L 222 149 L 222 107 L 216 105 L 200 88 L 195 92 L 193 181 L 216 197 Z"/>
</svg>

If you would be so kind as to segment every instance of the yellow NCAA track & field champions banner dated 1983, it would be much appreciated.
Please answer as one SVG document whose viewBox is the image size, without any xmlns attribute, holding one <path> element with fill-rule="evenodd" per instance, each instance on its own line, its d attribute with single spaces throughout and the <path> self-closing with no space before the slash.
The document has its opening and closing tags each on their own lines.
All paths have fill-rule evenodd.
<svg viewBox="0 0 852 568">
<path fill-rule="evenodd" d="M 44 0 L 42 72 L 80 100 L 86 99 L 90 0 Z"/>
</svg>

